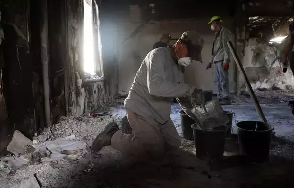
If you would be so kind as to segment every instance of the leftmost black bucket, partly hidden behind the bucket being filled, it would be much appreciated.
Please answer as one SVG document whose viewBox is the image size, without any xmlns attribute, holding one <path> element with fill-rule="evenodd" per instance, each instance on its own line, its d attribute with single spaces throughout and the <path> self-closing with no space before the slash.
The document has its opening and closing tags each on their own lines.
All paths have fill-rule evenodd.
<svg viewBox="0 0 294 188">
<path fill-rule="evenodd" d="M 191 128 L 191 125 L 195 123 L 193 119 L 191 119 L 183 110 L 179 112 L 180 118 L 181 118 L 181 127 L 182 127 L 182 133 L 183 137 L 187 140 L 194 140 L 193 137 L 193 131 Z"/>
</svg>

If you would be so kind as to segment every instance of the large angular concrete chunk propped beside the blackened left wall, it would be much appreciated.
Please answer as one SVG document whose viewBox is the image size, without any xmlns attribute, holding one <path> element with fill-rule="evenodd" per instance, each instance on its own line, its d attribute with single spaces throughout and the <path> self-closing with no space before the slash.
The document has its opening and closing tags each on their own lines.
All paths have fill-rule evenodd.
<svg viewBox="0 0 294 188">
<path fill-rule="evenodd" d="M 23 151 L 29 148 L 32 144 L 33 141 L 25 137 L 25 135 L 23 135 L 20 131 L 15 130 L 12 140 L 7 146 L 7 151 L 18 155 L 19 153 L 23 153 Z"/>
</svg>

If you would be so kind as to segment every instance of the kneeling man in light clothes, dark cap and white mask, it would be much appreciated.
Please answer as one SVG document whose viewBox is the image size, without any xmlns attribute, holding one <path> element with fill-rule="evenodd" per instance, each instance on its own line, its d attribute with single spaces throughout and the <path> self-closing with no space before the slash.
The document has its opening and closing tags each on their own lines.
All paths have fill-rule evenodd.
<svg viewBox="0 0 294 188">
<path fill-rule="evenodd" d="M 135 157 L 162 157 L 165 148 L 181 145 L 170 118 L 174 97 L 190 97 L 201 90 L 183 82 L 181 66 L 192 59 L 202 62 L 202 37 L 195 31 L 182 34 L 173 47 L 159 47 L 147 54 L 124 101 L 131 132 L 109 123 L 92 143 L 92 151 L 111 145 Z"/>
</svg>

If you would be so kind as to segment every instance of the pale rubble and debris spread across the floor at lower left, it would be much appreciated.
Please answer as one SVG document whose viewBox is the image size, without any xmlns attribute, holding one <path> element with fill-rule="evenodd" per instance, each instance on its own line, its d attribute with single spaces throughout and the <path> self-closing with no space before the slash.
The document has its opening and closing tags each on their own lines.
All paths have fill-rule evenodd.
<svg viewBox="0 0 294 188">
<path fill-rule="evenodd" d="M 0 159 L 0 181 L 5 180 L 10 183 L 6 185 L 3 182 L 0 187 L 3 185 L 5 188 L 10 188 L 12 185 L 17 185 L 17 188 L 23 185 L 35 187 L 37 177 L 34 176 L 36 173 L 40 176 L 41 168 L 44 173 L 51 172 L 50 176 L 54 176 L 52 180 L 42 179 L 43 183 L 66 178 L 72 171 L 78 171 L 85 166 L 85 163 L 95 160 L 96 155 L 91 155 L 89 149 L 91 141 L 108 123 L 115 121 L 120 124 L 121 120 L 122 118 L 111 115 L 96 118 L 60 117 L 56 124 L 45 128 L 39 135 L 36 133 L 33 141 L 16 130 L 7 147 L 11 153 Z M 108 150 L 107 152 L 114 155 Z M 70 168 L 69 164 L 78 167 Z M 20 182 L 19 180 L 24 176 L 26 179 Z M 13 180 L 10 179 L 11 177 Z M 36 185 L 36 188 L 39 187 L 42 186 Z"/>
</svg>

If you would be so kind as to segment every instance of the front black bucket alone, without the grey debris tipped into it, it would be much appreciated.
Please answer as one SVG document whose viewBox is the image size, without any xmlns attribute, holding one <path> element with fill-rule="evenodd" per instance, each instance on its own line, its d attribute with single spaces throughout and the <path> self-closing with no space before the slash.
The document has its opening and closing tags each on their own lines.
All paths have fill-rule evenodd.
<svg viewBox="0 0 294 188">
<path fill-rule="evenodd" d="M 227 126 L 215 130 L 201 130 L 192 125 L 196 155 L 201 160 L 213 160 L 223 157 Z"/>
</svg>

